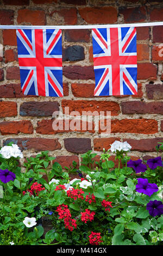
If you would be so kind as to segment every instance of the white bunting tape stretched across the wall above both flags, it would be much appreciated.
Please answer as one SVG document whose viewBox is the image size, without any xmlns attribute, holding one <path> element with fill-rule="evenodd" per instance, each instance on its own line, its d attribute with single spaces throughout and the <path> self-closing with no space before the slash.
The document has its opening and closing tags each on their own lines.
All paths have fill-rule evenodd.
<svg viewBox="0 0 163 256">
<path fill-rule="evenodd" d="M 106 25 L 74 25 L 74 26 L 17 26 L 17 25 L 0 25 L 0 29 L 93 29 L 93 28 L 118 28 L 118 27 L 151 27 L 163 26 L 160 22 L 145 23 L 125 23 L 125 24 L 106 24 Z"/>
</svg>

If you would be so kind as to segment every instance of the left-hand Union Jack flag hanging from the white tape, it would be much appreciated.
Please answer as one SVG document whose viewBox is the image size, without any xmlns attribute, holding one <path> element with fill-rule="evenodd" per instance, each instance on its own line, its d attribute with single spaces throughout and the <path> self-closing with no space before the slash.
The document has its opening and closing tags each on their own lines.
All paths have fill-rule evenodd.
<svg viewBox="0 0 163 256">
<path fill-rule="evenodd" d="M 24 95 L 63 96 L 60 29 L 17 29 Z"/>
</svg>

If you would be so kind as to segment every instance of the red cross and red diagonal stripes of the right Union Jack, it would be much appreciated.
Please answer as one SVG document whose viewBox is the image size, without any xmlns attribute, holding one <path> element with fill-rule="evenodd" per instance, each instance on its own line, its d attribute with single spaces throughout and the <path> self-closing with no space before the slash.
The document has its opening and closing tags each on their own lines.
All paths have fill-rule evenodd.
<svg viewBox="0 0 163 256">
<path fill-rule="evenodd" d="M 93 29 L 96 33 L 98 38 L 103 42 L 104 46 L 108 48 L 108 45 L 104 42 L 101 38 L 101 35 L 98 33 L 97 29 Z M 130 39 L 134 35 L 135 30 L 130 34 L 126 44 L 122 47 L 122 52 L 126 48 L 127 44 L 129 43 Z M 111 56 L 103 56 L 103 57 L 95 57 L 93 58 L 94 66 L 101 66 L 101 65 L 111 65 L 112 70 L 112 95 L 120 95 L 120 65 L 130 65 L 130 64 L 137 64 L 137 56 L 120 56 L 119 54 L 119 36 L 118 36 L 118 28 L 110 28 L 110 47 L 111 47 Z M 105 74 L 103 76 L 103 80 L 105 79 L 106 75 L 108 74 L 109 69 L 106 69 Z M 127 76 L 123 72 L 123 79 L 128 83 L 130 88 L 133 90 L 134 94 L 137 94 L 135 88 L 128 80 Z M 101 86 L 99 83 L 98 87 L 95 90 L 95 94 L 99 87 Z"/>
</svg>

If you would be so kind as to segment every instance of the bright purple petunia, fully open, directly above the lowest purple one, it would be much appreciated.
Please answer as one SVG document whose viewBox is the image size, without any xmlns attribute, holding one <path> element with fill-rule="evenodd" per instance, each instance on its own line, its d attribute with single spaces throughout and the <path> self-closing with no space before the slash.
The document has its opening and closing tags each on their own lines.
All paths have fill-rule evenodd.
<svg viewBox="0 0 163 256">
<path fill-rule="evenodd" d="M 147 179 L 139 178 L 137 179 L 135 190 L 139 193 L 147 194 L 147 196 L 151 197 L 154 192 L 159 190 L 159 188 L 155 183 L 148 183 Z"/>
</svg>

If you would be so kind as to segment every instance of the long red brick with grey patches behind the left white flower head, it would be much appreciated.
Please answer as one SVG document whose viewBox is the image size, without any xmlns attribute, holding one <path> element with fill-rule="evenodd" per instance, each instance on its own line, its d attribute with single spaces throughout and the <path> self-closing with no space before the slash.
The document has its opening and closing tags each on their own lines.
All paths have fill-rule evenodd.
<svg viewBox="0 0 163 256">
<path fill-rule="evenodd" d="M 28 150 L 34 149 L 35 151 L 44 150 L 57 150 L 61 149 L 61 145 L 58 139 L 48 139 L 48 138 L 8 138 L 3 141 L 3 145 L 7 145 L 9 142 L 14 142 L 20 149 Z"/>
</svg>

